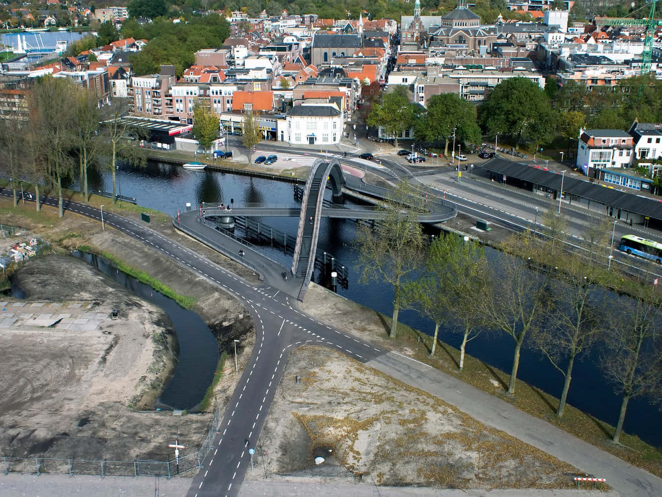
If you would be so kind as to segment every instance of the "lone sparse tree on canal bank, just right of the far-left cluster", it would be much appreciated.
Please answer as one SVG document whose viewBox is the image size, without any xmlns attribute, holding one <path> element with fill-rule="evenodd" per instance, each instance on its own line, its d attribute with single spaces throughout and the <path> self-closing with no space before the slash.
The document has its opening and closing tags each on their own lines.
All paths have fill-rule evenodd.
<svg viewBox="0 0 662 497">
<path fill-rule="evenodd" d="M 124 158 L 134 164 L 144 165 L 145 151 L 137 145 L 138 140 L 144 138 L 140 130 L 126 119 L 128 103 L 124 99 L 115 99 L 110 107 L 103 109 L 103 123 L 101 123 L 101 138 L 106 144 L 104 154 L 109 157 L 107 167 L 113 178 L 113 203 L 117 203 L 117 160 Z"/>
</svg>

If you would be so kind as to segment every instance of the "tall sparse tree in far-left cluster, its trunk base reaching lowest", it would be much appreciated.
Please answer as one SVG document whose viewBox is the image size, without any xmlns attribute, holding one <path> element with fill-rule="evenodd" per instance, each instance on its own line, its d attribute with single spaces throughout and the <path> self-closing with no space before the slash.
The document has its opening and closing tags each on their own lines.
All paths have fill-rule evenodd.
<svg viewBox="0 0 662 497">
<path fill-rule="evenodd" d="M 46 159 L 48 177 L 58 190 L 60 217 L 64 216 L 62 180 L 71 175 L 74 167 L 70 152 L 75 138 L 76 97 L 77 87 L 65 78 L 42 78 L 32 88 L 31 111 L 46 144 L 41 152 Z"/>
</svg>

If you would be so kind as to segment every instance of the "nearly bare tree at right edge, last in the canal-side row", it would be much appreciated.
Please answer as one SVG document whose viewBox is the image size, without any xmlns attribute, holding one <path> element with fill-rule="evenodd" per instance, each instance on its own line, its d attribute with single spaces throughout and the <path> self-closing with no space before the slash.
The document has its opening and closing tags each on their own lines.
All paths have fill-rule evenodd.
<svg viewBox="0 0 662 497">
<path fill-rule="evenodd" d="M 632 298 L 619 298 L 610 323 L 600 364 L 606 379 L 622 394 L 612 440 L 618 443 L 628 402 L 639 396 L 660 400 L 662 393 L 662 312 L 659 293 L 642 282 Z"/>
</svg>

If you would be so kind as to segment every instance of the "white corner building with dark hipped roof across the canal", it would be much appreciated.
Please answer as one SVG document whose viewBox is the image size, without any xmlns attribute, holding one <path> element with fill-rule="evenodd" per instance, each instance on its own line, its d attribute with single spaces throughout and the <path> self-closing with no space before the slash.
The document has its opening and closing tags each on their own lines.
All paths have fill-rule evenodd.
<svg viewBox="0 0 662 497">
<path fill-rule="evenodd" d="M 342 137 L 342 113 L 332 103 L 295 105 L 285 115 L 284 141 L 291 144 L 332 145 Z"/>
</svg>

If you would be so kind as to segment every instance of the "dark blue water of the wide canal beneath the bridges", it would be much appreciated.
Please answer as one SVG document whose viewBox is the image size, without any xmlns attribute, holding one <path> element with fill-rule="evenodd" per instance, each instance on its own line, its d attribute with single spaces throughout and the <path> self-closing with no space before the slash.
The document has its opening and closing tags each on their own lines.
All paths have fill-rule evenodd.
<svg viewBox="0 0 662 497">
<path fill-rule="evenodd" d="M 183 209 L 186 202 L 191 202 L 195 207 L 203 201 L 227 203 L 230 199 L 234 199 L 236 205 L 254 202 L 299 205 L 293 199 L 292 185 L 276 180 L 206 170 L 187 171 L 178 166 L 156 162 L 150 162 L 144 169 L 121 166 L 117 177 L 123 195 L 136 197 L 140 205 L 166 213 Z M 110 174 L 92 175 L 90 184 L 94 190 L 112 191 Z M 75 188 L 75 184 L 72 186 Z M 330 198 L 330 190 L 326 193 Z M 297 234 L 296 218 L 271 218 L 262 221 L 290 235 Z M 331 252 L 349 268 L 349 286 L 345 290 L 339 288 L 339 294 L 390 315 L 393 310 L 393 289 L 375 282 L 358 283 L 359 275 L 354 268 L 357 254 L 352 247 L 355 230 L 353 221 L 323 220 L 318 249 Z M 499 252 L 487 249 L 487 256 L 493 264 L 500 264 L 502 254 Z M 477 295 L 476 298 L 481 296 Z M 432 322 L 415 311 L 402 311 L 400 319 L 402 323 L 428 334 L 434 331 Z M 459 347 L 461 335 L 453 329 L 441 329 L 440 339 L 453 347 Z M 491 333 L 483 333 L 467 345 L 467 353 L 506 372 L 510 372 L 513 350 L 514 344 L 510 337 Z M 575 360 L 568 402 L 615 425 L 621 398 L 614 394 L 611 386 L 605 384 L 594 361 L 596 357 L 597 353 L 593 352 L 590 357 L 582 356 Z M 535 351 L 523 351 L 518 378 L 555 396 L 560 395 L 563 387 L 563 376 Z M 651 406 L 645 399 L 634 399 L 628 405 L 624 429 L 657 447 L 662 447 L 662 433 L 658 429 L 660 419 L 658 408 Z"/>
</svg>

